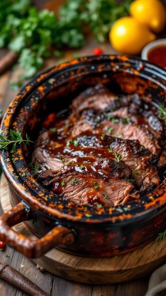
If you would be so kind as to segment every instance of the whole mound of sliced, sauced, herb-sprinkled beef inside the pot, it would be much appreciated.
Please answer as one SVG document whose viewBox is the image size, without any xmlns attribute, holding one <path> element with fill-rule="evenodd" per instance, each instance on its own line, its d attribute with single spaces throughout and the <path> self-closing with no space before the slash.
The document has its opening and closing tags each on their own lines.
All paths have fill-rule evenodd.
<svg viewBox="0 0 166 296">
<path fill-rule="evenodd" d="M 150 96 L 116 95 L 98 84 L 70 109 L 35 144 L 32 162 L 41 167 L 35 178 L 44 188 L 76 204 L 102 207 L 131 202 L 160 183 L 165 125 Z"/>
</svg>

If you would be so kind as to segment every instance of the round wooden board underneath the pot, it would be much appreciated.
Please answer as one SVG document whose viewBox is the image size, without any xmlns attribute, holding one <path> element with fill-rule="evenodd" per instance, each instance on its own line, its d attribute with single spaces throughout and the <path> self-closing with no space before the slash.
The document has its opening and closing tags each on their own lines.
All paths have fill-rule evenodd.
<svg viewBox="0 0 166 296">
<path fill-rule="evenodd" d="M 11 208 L 7 181 L 2 175 L 0 200 L 4 212 Z M 22 222 L 13 229 L 37 239 Z M 88 231 L 88 230 L 87 230 Z M 128 254 L 108 258 L 87 258 L 53 249 L 43 257 L 31 259 L 45 270 L 64 279 L 90 284 L 113 284 L 145 276 L 166 261 L 166 240 L 154 241 Z"/>
</svg>

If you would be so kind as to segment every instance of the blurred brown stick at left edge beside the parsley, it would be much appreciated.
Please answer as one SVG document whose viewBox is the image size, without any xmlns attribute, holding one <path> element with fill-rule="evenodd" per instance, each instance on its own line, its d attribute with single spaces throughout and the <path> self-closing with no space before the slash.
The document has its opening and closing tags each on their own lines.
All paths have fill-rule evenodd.
<svg viewBox="0 0 166 296">
<path fill-rule="evenodd" d="M 19 57 L 18 52 L 8 52 L 0 59 L 0 75 L 6 72 L 11 66 L 15 64 Z"/>
</svg>

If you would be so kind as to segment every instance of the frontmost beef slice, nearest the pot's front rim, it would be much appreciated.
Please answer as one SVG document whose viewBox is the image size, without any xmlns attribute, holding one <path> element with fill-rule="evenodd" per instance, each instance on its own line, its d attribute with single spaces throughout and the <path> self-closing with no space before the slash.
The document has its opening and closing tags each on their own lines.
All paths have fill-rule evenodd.
<svg viewBox="0 0 166 296">
<path fill-rule="evenodd" d="M 134 185 L 123 176 L 123 168 L 116 168 L 115 161 L 100 159 L 95 162 L 97 172 L 66 166 L 58 173 L 47 170 L 36 175 L 37 181 L 64 200 L 82 205 L 114 206 L 139 198 Z M 102 171 L 102 175 L 98 173 Z"/>
</svg>

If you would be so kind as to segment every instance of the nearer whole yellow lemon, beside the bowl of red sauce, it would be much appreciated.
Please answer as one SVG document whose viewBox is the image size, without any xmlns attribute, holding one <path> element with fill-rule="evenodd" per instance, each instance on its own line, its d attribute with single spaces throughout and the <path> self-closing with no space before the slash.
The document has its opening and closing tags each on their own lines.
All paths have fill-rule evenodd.
<svg viewBox="0 0 166 296">
<path fill-rule="evenodd" d="M 119 52 L 139 54 L 156 36 L 134 17 L 121 17 L 113 24 L 109 38 L 112 46 Z"/>
</svg>

